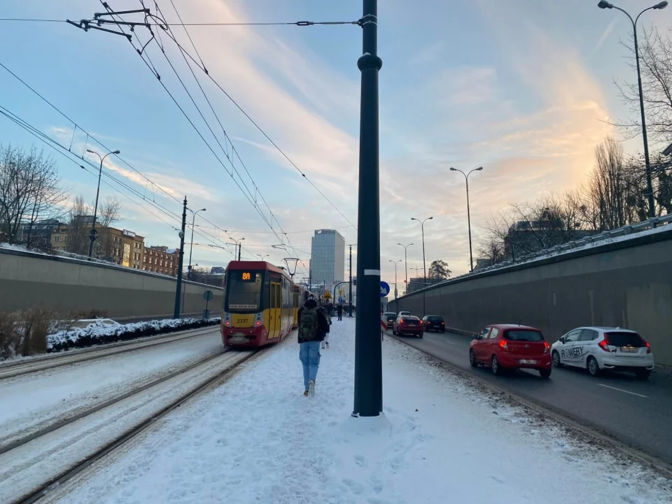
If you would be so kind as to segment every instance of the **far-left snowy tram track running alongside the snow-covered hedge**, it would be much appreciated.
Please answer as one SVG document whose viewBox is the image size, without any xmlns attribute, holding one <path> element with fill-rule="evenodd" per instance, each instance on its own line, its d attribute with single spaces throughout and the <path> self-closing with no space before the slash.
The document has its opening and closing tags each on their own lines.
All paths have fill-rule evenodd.
<svg viewBox="0 0 672 504">
<path fill-rule="evenodd" d="M 18 377 L 24 374 L 31 374 L 38 371 L 52 370 L 56 367 L 62 367 L 64 365 L 83 363 L 87 360 L 115 356 L 119 355 L 120 353 L 148 349 L 152 346 L 160 346 L 179 342 L 182 339 L 202 336 L 211 332 L 216 332 L 218 330 L 218 325 L 211 325 L 206 328 L 188 329 L 185 331 L 169 333 L 167 335 L 155 335 L 142 339 L 133 339 L 131 341 L 106 344 L 104 346 L 94 346 L 86 349 L 78 349 L 76 351 L 51 354 L 49 356 L 21 360 L 18 363 L 1 364 L 0 380 Z"/>
</svg>

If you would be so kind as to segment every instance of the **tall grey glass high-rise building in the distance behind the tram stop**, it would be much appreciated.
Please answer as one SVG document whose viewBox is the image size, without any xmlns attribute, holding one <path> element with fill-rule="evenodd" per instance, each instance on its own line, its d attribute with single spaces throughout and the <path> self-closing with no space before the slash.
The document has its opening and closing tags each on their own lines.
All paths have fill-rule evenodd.
<svg viewBox="0 0 672 504">
<path fill-rule="evenodd" d="M 316 230 L 310 244 L 313 285 L 330 285 L 345 279 L 345 239 L 337 230 Z"/>
</svg>

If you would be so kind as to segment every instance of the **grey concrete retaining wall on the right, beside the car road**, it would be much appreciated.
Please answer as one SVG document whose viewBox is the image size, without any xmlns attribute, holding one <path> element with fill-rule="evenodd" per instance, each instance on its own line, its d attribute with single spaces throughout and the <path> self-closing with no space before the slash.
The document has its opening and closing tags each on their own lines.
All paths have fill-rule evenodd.
<svg viewBox="0 0 672 504">
<path fill-rule="evenodd" d="M 489 323 L 534 325 L 550 342 L 577 326 L 617 325 L 640 332 L 657 363 L 672 365 L 669 228 L 465 276 L 400 297 L 388 309 L 441 315 L 447 326 L 470 332 Z"/>
</svg>

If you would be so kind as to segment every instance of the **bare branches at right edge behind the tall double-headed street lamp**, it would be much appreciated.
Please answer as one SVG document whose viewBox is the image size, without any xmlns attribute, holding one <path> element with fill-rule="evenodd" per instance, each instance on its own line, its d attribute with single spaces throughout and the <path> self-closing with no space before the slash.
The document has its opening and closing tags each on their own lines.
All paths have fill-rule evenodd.
<svg viewBox="0 0 672 504">
<path fill-rule="evenodd" d="M 630 66 L 636 71 L 633 39 L 623 45 L 631 50 Z M 669 142 L 672 139 L 672 39 L 654 28 L 643 31 L 638 48 L 647 133 L 653 141 Z M 618 126 L 627 137 L 636 137 L 642 132 L 638 85 L 636 82 L 616 85 L 633 117 Z"/>
</svg>

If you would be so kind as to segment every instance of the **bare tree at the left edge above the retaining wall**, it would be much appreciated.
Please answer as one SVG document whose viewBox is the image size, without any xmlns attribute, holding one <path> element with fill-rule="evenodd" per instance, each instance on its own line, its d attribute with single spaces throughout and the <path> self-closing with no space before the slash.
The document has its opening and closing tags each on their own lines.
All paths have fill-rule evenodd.
<svg viewBox="0 0 672 504">
<path fill-rule="evenodd" d="M 42 151 L 0 146 L 0 240 L 15 243 L 25 224 L 30 237 L 36 221 L 59 216 L 67 199 L 59 184 L 54 160 Z"/>
</svg>

